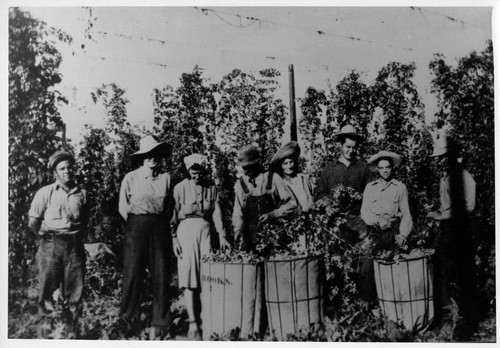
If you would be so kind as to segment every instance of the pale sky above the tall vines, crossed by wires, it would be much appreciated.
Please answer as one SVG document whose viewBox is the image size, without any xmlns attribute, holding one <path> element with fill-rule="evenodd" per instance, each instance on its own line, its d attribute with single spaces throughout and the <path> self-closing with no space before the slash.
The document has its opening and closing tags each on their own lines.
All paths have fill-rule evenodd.
<svg viewBox="0 0 500 348">
<path fill-rule="evenodd" d="M 131 123 L 151 128 L 153 89 L 178 87 L 181 74 L 196 64 L 212 82 L 234 68 L 275 68 L 281 72 L 277 96 L 288 106 L 290 64 L 298 99 L 307 87 L 328 90 L 353 70 L 371 84 L 390 61 L 415 62 L 430 121 L 436 111 L 428 69 L 433 55 L 456 65 L 492 37 L 491 7 L 195 5 L 93 6 L 92 17 L 82 7 L 23 7 L 73 37 L 71 45 L 57 44 L 63 80 L 56 89 L 69 100 L 60 107 L 69 138 L 78 142 L 84 124 L 103 125 L 103 109 L 90 93 L 107 83 L 126 90 Z M 91 39 L 84 37 L 90 18 Z"/>
</svg>

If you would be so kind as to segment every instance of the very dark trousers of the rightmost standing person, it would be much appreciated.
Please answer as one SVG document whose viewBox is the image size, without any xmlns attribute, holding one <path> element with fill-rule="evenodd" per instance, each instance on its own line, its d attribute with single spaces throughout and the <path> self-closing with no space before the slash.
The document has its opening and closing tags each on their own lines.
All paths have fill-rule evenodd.
<svg viewBox="0 0 500 348">
<path fill-rule="evenodd" d="M 438 315 L 451 304 L 451 283 L 457 286 L 456 302 L 460 315 L 475 322 L 478 316 L 474 247 L 466 219 L 441 221 L 435 241 L 434 292 Z"/>
</svg>

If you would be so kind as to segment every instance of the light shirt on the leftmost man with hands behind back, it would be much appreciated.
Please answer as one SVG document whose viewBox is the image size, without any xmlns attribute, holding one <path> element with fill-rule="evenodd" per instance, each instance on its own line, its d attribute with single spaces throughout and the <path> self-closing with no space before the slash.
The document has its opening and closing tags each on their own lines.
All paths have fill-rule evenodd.
<svg viewBox="0 0 500 348">
<path fill-rule="evenodd" d="M 88 215 L 87 193 L 78 186 L 64 191 L 59 182 L 42 187 L 35 194 L 29 217 L 41 220 L 40 234 L 71 235 L 84 232 Z"/>
</svg>

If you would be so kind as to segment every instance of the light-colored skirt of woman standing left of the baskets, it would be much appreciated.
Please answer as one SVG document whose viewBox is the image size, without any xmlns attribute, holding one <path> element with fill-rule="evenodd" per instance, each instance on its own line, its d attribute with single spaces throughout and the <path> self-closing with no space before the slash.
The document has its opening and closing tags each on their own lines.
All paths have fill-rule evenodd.
<svg viewBox="0 0 500 348">
<path fill-rule="evenodd" d="M 182 220 L 177 228 L 182 257 L 177 259 L 179 288 L 201 287 L 201 259 L 211 252 L 210 223 L 202 218 Z"/>
</svg>

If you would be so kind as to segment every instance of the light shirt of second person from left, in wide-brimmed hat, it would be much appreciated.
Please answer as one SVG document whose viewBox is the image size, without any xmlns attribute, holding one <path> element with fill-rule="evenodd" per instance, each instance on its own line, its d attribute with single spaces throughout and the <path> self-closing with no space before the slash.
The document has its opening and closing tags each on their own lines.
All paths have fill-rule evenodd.
<svg viewBox="0 0 500 348">
<path fill-rule="evenodd" d="M 170 175 L 153 176 L 151 169 L 140 167 L 123 178 L 118 210 L 127 220 L 128 214 L 145 215 L 167 213 L 170 195 Z"/>
</svg>

